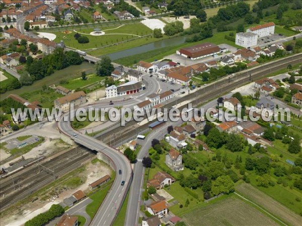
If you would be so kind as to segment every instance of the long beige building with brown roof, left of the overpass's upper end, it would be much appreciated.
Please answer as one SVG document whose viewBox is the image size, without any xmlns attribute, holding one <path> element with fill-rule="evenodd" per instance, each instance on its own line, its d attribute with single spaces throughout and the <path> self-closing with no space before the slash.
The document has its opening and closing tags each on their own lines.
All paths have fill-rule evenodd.
<svg viewBox="0 0 302 226">
<path fill-rule="evenodd" d="M 55 108 L 62 108 L 63 111 L 68 110 L 71 104 L 75 106 L 83 103 L 86 103 L 86 93 L 84 91 L 74 92 L 54 100 Z"/>
</svg>

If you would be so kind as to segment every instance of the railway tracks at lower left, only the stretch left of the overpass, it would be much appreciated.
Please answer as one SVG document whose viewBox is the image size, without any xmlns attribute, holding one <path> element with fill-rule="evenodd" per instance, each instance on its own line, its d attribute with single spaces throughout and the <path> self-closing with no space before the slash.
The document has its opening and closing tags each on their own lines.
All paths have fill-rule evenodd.
<svg viewBox="0 0 302 226">
<path fill-rule="evenodd" d="M 41 163 L 41 165 L 30 167 L 17 176 L 1 179 L 0 209 L 4 210 L 8 208 L 12 203 L 24 199 L 24 197 L 54 181 L 55 178 L 80 167 L 83 162 L 89 160 L 93 155 L 86 148 L 77 147 L 47 162 Z M 54 173 L 47 169 L 50 169 Z"/>
</svg>

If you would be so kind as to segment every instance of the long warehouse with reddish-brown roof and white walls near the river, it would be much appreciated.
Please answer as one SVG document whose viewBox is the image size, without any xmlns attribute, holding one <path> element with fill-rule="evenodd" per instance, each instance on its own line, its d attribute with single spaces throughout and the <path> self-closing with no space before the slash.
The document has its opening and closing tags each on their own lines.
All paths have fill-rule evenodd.
<svg viewBox="0 0 302 226">
<path fill-rule="evenodd" d="M 220 48 L 212 43 L 202 43 L 195 46 L 182 48 L 176 51 L 176 53 L 191 60 L 197 60 L 220 53 Z"/>
</svg>

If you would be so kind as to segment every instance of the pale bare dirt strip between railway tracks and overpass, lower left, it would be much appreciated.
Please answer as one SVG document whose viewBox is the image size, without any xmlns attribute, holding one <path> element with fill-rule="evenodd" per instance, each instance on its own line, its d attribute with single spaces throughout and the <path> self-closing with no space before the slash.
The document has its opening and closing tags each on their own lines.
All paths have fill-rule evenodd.
<svg viewBox="0 0 302 226">
<path fill-rule="evenodd" d="M 77 175 L 79 177 L 86 178 L 86 181 L 82 185 L 80 185 L 77 188 L 64 190 L 55 199 L 53 198 L 52 200 L 48 199 L 44 203 L 40 201 L 28 203 L 23 206 L 24 208 L 23 210 L 13 214 L 11 217 L 2 217 L 1 225 L 10 225 L 10 226 L 22 225 L 27 220 L 35 217 L 39 213 L 47 211 L 52 204 L 58 204 L 59 202 L 63 201 L 64 198 L 69 197 L 70 195 L 72 195 L 74 192 L 78 190 L 83 190 L 85 193 L 88 193 L 89 192 L 88 185 L 90 183 L 100 179 L 101 177 L 107 174 L 111 175 L 111 173 L 112 173 L 111 168 L 108 165 L 106 165 L 104 162 L 96 161 L 94 164 L 92 162 L 89 162 L 86 165 L 85 170 Z M 53 189 L 49 189 L 49 190 L 53 190 Z"/>
</svg>

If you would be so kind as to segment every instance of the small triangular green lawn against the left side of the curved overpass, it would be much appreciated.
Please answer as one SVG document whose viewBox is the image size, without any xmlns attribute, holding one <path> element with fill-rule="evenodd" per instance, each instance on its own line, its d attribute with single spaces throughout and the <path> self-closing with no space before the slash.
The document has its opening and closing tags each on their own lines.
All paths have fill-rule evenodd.
<svg viewBox="0 0 302 226">
<path fill-rule="evenodd" d="M 113 179 L 111 179 L 111 181 L 112 180 Z M 102 188 L 101 190 L 97 191 L 96 193 L 90 196 L 93 202 L 89 203 L 86 206 L 86 212 L 91 218 L 93 218 L 96 212 L 98 211 L 110 187 L 111 187 L 111 183 L 107 184 L 106 187 Z"/>
</svg>

